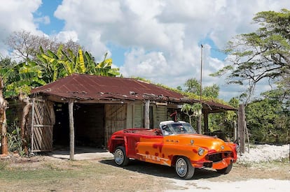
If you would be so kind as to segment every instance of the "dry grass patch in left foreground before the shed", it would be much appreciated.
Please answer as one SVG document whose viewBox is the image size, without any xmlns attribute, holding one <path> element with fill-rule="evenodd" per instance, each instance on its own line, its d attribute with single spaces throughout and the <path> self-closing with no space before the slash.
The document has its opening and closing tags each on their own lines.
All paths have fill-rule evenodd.
<svg viewBox="0 0 290 192">
<path fill-rule="evenodd" d="M 130 166 L 128 170 L 106 163 L 11 163 L 0 171 L 0 191 L 160 191 L 168 187 L 162 179 L 130 170 Z M 13 185 L 1 185 L 5 183 Z"/>
</svg>

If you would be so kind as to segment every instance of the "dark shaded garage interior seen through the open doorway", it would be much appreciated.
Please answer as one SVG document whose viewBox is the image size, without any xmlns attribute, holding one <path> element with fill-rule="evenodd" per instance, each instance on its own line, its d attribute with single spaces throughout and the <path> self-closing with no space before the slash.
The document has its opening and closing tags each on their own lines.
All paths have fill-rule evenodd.
<svg viewBox="0 0 290 192">
<path fill-rule="evenodd" d="M 55 103 L 55 125 L 53 126 L 53 146 L 69 146 L 68 103 Z M 104 104 L 74 105 L 74 131 L 76 146 L 103 148 Z"/>
</svg>

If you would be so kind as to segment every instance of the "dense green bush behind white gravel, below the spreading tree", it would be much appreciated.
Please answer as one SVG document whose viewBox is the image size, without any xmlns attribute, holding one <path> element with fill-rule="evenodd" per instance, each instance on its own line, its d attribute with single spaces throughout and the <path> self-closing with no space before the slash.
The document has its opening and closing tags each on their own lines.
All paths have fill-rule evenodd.
<svg viewBox="0 0 290 192">
<path fill-rule="evenodd" d="M 280 101 L 272 98 L 253 101 L 247 105 L 245 111 L 247 128 L 252 141 L 287 142 L 290 116 L 289 112 L 284 111 Z"/>
</svg>

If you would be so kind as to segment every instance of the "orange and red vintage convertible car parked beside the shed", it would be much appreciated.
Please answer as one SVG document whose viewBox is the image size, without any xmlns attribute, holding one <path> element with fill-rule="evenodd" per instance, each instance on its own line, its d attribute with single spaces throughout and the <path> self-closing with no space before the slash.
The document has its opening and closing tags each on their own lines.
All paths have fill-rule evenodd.
<svg viewBox="0 0 290 192">
<path fill-rule="evenodd" d="M 195 168 L 213 168 L 227 174 L 237 161 L 238 145 L 196 133 L 184 122 L 163 121 L 159 128 L 128 128 L 111 135 L 109 152 L 117 165 L 130 158 L 172 166 L 183 179 L 193 177 Z"/>
</svg>

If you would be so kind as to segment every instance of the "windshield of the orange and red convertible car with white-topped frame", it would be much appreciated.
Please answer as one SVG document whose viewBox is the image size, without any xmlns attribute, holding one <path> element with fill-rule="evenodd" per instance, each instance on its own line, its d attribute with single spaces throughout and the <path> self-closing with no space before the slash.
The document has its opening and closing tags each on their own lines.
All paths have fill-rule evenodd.
<svg viewBox="0 0 290 192">
<path fill-rule="evenodd" d="M 185 133 L 196 133 L 195 129 L 188 123 L 172 123 L 161 126 L 163 135 L 177 135 Z"/>
</svg>

